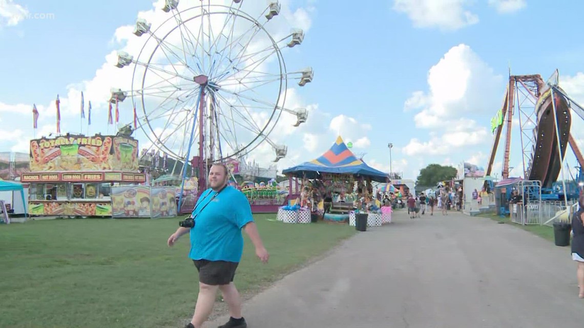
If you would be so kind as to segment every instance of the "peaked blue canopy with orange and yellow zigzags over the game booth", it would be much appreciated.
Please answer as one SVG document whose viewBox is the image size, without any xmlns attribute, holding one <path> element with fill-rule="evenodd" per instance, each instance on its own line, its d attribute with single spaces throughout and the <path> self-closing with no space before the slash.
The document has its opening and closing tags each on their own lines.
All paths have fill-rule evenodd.
<svg viewBox="0 0 584 328">
<path fill-rule="evenodd" d="M 387 182 L 389 179 L 387 173 L 371 168 L 363 160 L 356 158 L 341 137 L 336 138 L 331 148 L 319 158 L 282 171 L 283 175 L 308 179 L 319 179 L 320 173 L 353 174 L 370 177 L 377 182 Z"/>
</svg>

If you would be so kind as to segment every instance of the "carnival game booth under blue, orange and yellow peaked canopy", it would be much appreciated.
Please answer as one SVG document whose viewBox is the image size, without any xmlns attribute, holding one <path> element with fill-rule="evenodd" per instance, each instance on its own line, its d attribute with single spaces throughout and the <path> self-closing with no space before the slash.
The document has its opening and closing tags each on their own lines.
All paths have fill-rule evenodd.
<svg viewBox="0 0 584 328">
<path fill-rule="evenodd" d="M 324 208 L 312 210 L 312 213 L 324 212 L 325 221 L 348 222 L 350 212 L 359 206 L 356 203 L 361 201 L 364 195 L 374 198 L 371 182 L 388 182 L 387 173 L 371 168 L 363 160 L 358 159 L 341 137 L 338 137 L 331 148 L 318 158 L 285 169 L 282 174 L 303 180 L 300 204 L 297 204 L 296 208 L 282 207 L 279 210 L 278 217 L 282 221 L 287 218 L 291 223 L 306 222 L 306 211 L 308 210 L 310 217 L 311 209 L 318 207 L 310 204 L 313 198 L 311 193 L 328 194 L 331 197 L 330 204 L 325 204 L 324 200 L 316 202 L 322 204 Z M 312 183 L 309 180 L 312 180 Z"/>
</svg>

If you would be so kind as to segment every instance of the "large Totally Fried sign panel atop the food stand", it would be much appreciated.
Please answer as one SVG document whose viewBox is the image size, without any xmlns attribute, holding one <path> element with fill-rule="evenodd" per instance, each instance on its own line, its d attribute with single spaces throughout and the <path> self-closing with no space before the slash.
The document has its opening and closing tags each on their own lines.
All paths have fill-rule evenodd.
<svg viewBox="0 0 584 328">
<path fill-rule="evenodd" d="M 138 141 L 114 135 L 67 135 L 30 141 L 31 171 L 137 170 Z"/>
</svg>

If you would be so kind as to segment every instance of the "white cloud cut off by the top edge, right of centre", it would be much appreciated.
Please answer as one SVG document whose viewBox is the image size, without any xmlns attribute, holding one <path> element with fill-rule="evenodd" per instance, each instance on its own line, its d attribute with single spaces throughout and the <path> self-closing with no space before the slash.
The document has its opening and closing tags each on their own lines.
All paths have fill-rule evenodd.
<svg viewBox="0 0 584 328">
<path fill-rule="evenodd" d="M 452 31 L 478 23 L 469 0 L 394 0 L 394 10 L 408 15 L 416 27 Z"/>
</svg>

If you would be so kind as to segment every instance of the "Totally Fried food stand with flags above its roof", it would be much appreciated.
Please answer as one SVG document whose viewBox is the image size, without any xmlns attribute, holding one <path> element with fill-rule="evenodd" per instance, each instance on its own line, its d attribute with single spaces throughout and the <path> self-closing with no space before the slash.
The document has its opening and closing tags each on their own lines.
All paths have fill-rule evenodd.
<svg viewBox="0 0 584 328">
<path fill-rule="evenodd" d="M 29 214 L 112 217 L 112 187 L 144 183 L 138 141 L 131 137 L 62 135 L 30 141 Z"/>
</svg>

